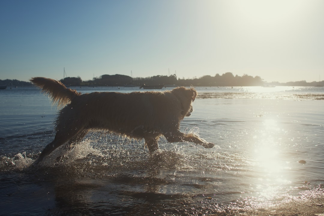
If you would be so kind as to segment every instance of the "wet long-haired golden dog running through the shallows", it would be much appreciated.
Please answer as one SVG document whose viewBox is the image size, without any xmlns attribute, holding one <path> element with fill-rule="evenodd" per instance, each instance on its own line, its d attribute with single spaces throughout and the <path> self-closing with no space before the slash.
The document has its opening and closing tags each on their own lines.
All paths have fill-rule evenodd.
<svg viewBox="0 0 324 216">
<path fill-rule="evenodd" d="M 81 94 L 60 81 L 34 77 L 30 81 L 62 108 L 55 120 L 55 137 L 33 163 L 67 142 L 80 142 L 90 131 L 108 131 L 130 139 L 145 140 L 150 153 L 158 149 L 158 138 L 168 142 L 193 142 L 205 148 L 213 143 L 195 134 L 179 131 L 180 121 L 190 116 L 197 96 L 194 88 L 177 87 L 172 91 L 93 92 Z"/>
</svg>

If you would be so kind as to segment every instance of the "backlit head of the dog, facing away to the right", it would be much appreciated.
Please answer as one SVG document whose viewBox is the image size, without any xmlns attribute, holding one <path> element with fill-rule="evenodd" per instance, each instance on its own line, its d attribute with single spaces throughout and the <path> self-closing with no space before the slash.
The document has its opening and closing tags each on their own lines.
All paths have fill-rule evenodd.
<svg viewBox="0 0 324 216">
<path fill-rule="evenodd" d="M 172 90 L 172 93 L 180 100 L 182 118 L 190 116 L 192 112 L 192 102 L 197 96 L 197 91 L 194 88 L 178 87 Z"/>
</svg>

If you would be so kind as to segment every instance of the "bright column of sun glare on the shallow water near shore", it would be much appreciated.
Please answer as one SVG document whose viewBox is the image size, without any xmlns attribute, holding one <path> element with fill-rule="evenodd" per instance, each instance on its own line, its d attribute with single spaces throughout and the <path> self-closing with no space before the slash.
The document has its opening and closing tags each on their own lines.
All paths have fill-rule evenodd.
<svg viewBox="0 0 324 216">
<path fill-rule="evenodd" d="M 282 185 L 289 182 L 285 174 L 287 166 L 281 156 L 281 131 L 275 119 L 265 119 L 253 136 L 254 183 L 264 199 L 274 197 Z"/>
</svg>

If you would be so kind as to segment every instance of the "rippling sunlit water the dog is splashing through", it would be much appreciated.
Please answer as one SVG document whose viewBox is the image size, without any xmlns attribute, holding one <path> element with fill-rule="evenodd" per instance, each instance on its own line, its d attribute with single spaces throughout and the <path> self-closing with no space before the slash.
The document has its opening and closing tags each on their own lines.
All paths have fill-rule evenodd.
<svg viewBox="0 0 324 216">
<path fill-rule="evenodd" d="M 206 215 L 322 195 L 324 88 L 196 89 L 180 130 L 214 148 L 161 138 L 150 157 L 141 141 L 94 133 L 38 170 L 29 165 L 53 139 L 57 108 L 34 87 L 1 90 L 0 214 Z"/>
</svg>

